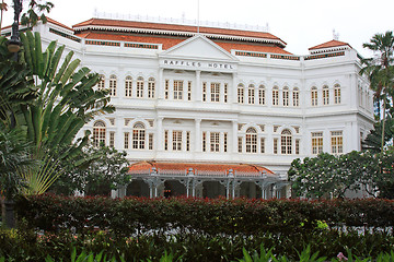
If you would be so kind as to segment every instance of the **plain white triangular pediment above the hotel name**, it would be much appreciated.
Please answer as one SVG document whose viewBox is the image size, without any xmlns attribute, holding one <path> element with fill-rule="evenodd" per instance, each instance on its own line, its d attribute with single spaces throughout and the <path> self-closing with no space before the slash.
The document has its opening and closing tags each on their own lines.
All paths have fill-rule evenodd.
<svg viewBox="0 0 394 262">
<path fill-rule="evenodd" d="M 215 61 L 237 61 L 237 59 L 202 35 L 196 35 L 165 50 L 162 58 L 209 59 Z"/>
</svg>

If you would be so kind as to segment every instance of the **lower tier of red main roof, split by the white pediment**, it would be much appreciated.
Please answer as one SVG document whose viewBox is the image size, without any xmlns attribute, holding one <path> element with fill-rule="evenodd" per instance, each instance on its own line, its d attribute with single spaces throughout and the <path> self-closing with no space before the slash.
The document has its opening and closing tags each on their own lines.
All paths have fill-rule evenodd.
<svg viewBox="0 0 394 262">
<path fill-rule="evenodd" d="M 124 35 L 124 34 L 111 34 L 111 33 L 95 33 L 95 32 L 76 32 L 76 36 L 88 38 L 88 39 L 101 39 L 101 40 L 121 40 L 121 41 L 137 41 L 137 43 L 151 43 L 151 44 L 162 44 L 163 50 L 166 50 L 181 41 L 187 39 L 188 37 L 165 37 L 165 36 L 140 36 L 137 34 Z M 258 51 L 258 52 L 271 52 L 271 53 L 286 53 L 291 55 L 290 52 L 283 50 L 277 46 L 268 46 L 268 45 L 257 45 L 257 44 L 247 44 L 247 43 L 230 43 L 230 41 L 219 41 L 213 40 L 217 45 L 225 49 L 227 51 L 231 51 L 231 49 L 236 50 L 246 50 L 246 51 Z"/>
</svg>

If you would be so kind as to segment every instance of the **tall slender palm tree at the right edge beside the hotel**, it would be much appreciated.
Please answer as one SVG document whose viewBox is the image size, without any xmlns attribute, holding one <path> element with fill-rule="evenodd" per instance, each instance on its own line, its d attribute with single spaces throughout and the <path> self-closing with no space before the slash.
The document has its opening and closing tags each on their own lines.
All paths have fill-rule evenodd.
<svg viewBox="0 0 394 262">
<path fill-rule="evenodd" d="M 360 71 L 361 74 L 367 74 L 370 80 L 371 88 L 375 92 L 375 99 L 380 107 L 380 102 L 383 103 L 383 118 L 381 151 L 384 147 L 384 130 L 387 100 L 392 102 L 394 94 L 394 36 L 393 32 L 385 34 L 375 34 L 370 43 L 362 45 L 364 48 L 373 51 L 374 57 L 363 59 L 366 67 Z"/>
</svg>

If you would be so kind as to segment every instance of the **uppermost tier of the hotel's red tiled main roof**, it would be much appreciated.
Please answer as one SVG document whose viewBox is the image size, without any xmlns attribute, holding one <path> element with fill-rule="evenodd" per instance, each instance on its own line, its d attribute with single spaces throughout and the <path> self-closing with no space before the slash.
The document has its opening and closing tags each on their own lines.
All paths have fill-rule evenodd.
<svg viewBox="0 0 394 262">
<path fill-rule="evenodd" d="M 114 26 L 114 27 L 129 27 L 129 28 L 141 28 L 141 29 L 161 29 L 161 31 L 173 31 L 173 32 L 189 32 L 196 33 L 197 26 L 190 25 L 176 25 L 176 24 L 162 24 L 162 23 L 149 23 L 149 22 L 136 22 L 136 21 L 121 21 L 121 20 L 105 20 L 105 19 L 90 19 L 73 25 L 73 28 L 82 26 Z M 216 34 L 216 35 L 230 35 L 241 37 L 255 37 L 265 39 L 275 39 L 282 41 L 279 37 L 266 33 L 266 32 L 253 32 L 253 31 L 239 31 L 239 29 L 225 29 L 215 27 L 199 27 L 201 34 Z M 285 41 L 282 41 L 285 43 Z M 286 45 L 286 43 L 285 43 Z"/>
</svg>

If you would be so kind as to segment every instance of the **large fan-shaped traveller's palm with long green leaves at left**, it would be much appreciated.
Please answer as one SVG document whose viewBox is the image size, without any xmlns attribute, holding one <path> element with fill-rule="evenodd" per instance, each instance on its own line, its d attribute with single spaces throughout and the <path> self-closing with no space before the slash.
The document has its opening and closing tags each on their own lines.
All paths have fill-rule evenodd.
<svg viewBox="0 0 394 262">
<path fill-rule="evenodd" d="M 2 68 L 13 80 L 9 81 L 13 85 L 4 82 L 3 86 L 9 91 L 2 88 L 2 93 L 31 94 L 25 92 L 27 90 L 36 95 L 30 103 L 26 103 L 26 96 L 9 95 L 22 103 L 11 99 L 8 111 L 12 111 L 15 124 L 26 127 L 26 139 L 32 143 L 31 155 L 42 164 L 39 168 L 20 170 L 31 186 L 25 193 L 42 193 L 60 176 L 61 162 L 76 159 L 81 154 L 81 148 L 88 143 L 88 134 L 77 143 L 73 141 L 83 124 L 97 115 L 113 112 L 114 107 L 109 105 L 108 91 L 94 88 L 99 75 L 88 68 L 79 68 L 80 60 L 72 60 L 72 51 L 62 59 L 65 46 L 57 48 L 56 41 L 53 41 L 43 52 L 38 33 L 21 34 L 21 40 L 23 47 L 19 64 L 22 66 Z M 3 62 L 12 64 L 4 50 L 4 38 L 0 39 L 0 44 Z M 21 72 L 20 78 L 18 72 Z M 26 84 L 22 80 L 30 82 Z"/>
</svg>

